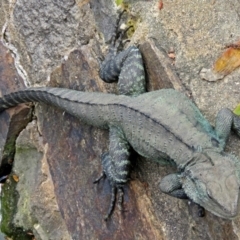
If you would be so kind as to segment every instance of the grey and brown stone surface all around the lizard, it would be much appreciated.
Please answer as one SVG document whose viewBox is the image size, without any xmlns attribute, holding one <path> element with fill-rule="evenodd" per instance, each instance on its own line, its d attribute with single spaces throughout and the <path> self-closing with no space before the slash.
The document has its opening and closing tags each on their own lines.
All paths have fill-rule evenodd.
<svg viewBox="0 0 240 240">
<path fill-rule="evenodd" d="M 240 3 L 164 0 L 162 9 L 158 4 L 129 0 L 123 5 L 128 24 L 134 25 L 130 44 L 140 46 L 145 60 L 148 90 L 173 86 L 193 98 L 214 123 L 221 107 L 239 103 L 240 70 L 216 82 L 203 81 L 199 73 L 211 68 L 224 45 L 239 40 Z M 99 79 L 97 61 L 106 52 L 116 11 L 112 0 L 0 0 L 2 93 L 29 85 L 116 92 L 115 84 Z M 17 110 L 0 118 L 2 155 L 8 136 L 15 139 L 33 119 L 18 137 L 13 168 L 19 177 L 14 184 L 18 211 L 11 221 L 27 230 L 28 238 L 33 233 L 36 239 L 239 239 L 240 216 L 230 221 L 207 212 L 199 218 L 195 205 L 159 191 L 160 179 L 175 169 L 137 156 L 135 176 L 124 189 L 126 211 L 116 210 L 104 222 L 110 187 L 107 181 L 92 182 L 101 173 L 108 132 L 36 104 L 33 115 L 25 113 L 31 117 L 19 120 L 21 127 L 9 135 L 11 116 L 17 115 L 12 111 Z M 240 156 L 236 136 L 227 150 Z"/>
</svg>

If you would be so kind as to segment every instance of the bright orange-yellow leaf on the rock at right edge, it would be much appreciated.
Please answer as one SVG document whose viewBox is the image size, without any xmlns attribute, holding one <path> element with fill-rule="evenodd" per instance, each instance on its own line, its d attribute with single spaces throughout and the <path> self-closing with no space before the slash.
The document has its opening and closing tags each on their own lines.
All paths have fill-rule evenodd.
<svg viewBox="0 0 240 240">
<path fill-rule="evenodd" d="M 240 41 L 227 46 L 228 49 L 217 59 L 214 71 L 227 75 L 240 66 Z"/>
</svg>

